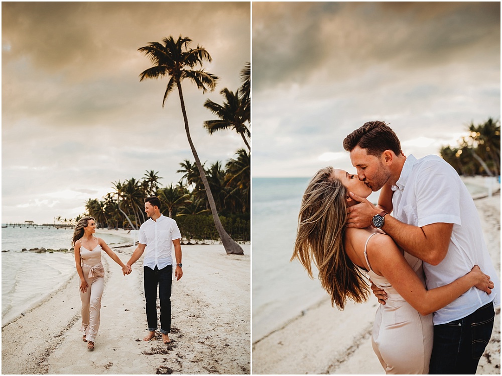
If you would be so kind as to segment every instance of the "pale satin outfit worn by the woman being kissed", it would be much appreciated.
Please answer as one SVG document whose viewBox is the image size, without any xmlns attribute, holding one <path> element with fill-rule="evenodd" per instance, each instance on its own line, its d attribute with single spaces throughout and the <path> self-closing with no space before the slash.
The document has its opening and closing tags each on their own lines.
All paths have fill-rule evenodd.
<svg viewBox="0 0 502 376">
<path fill-rule="evenodd" d="M 373 323 L 371 344 L 386 374 L 427 374 L 431 359 L 434 330 L 432 314 L 422 316 L 391 286 L 387 278 L 371 270 L 366 246 L 364 257 L 369 266 L 366 273 L 373 283 L 385 290 L 387 301 L 379 304 Z M 425 287 L 422 261 L 407 252 L 406 261 L 422 280 Z"/>
</svg>

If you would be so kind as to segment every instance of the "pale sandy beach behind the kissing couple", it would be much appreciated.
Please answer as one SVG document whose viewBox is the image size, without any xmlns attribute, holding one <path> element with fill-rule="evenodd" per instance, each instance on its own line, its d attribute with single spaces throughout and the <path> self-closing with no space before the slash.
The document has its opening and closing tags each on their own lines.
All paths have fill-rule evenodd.
<svg viewBox="0 0 502 376">
<path fill-rule="evenodd" d="M 500 193 L 475 200 L 495 270 L 500 271 Z M 500 278 L 500 273 L 498 275 Z M 331 307 L 329 297 L 253 343 L 254 374 L 384 374 L 371 348 L 378 303 Z M 478 374 L 500 374 L 500 308 Z"/>
</svg>

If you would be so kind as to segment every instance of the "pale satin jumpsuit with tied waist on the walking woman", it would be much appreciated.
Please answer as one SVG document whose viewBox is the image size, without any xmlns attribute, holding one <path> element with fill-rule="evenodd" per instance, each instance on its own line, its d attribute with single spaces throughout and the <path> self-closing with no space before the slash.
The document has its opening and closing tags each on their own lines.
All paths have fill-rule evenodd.
<svg viewBox="0 0 502 376">
<path fill-rule="evenodd" d="M 98 244 L 94 249 L 88 250 L 80 246 L 80 259 L 82 271 L 87 282 L 87 290 L 82 293 L 82 326 L 80 331 L 85 334 L 87 341 L 94 342 L 100 322 L 101 296 L 104 288 L 104 269 L 101 264 L 102 248 Z"/>
</svg>

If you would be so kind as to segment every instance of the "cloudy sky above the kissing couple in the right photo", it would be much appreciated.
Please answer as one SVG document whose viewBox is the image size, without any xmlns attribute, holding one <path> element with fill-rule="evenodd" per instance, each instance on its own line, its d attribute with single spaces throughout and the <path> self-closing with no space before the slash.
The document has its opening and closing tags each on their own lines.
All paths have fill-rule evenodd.
<svg viewBox="0 0 502 376">
<path fill-rule="evenodd" d="M 354 169 L 342 141 L 390 123 L 438 154 L 500 119 L 500 3 L 253 3 L 253 176 Z"/>
</svg>

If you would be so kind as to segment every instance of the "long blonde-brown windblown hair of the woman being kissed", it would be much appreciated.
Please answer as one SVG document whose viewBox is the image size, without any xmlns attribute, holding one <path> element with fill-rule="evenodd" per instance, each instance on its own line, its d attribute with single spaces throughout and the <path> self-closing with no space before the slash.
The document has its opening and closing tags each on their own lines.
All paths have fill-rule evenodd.
<svg viewBox="0 0 502 376">
<path fill-rule="evenodd" d="M 343 248 L 347 189 L 332 173 L 333 167 L 317 171 L 305 190 L 291 261 L 298 258 L 311 278 L 313 261 L 331 305 L 343 310 L 347 299 L 365 302 L 369 289 Z"/>
</svg>

